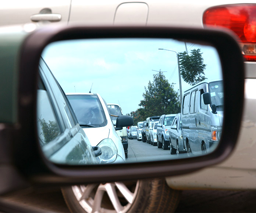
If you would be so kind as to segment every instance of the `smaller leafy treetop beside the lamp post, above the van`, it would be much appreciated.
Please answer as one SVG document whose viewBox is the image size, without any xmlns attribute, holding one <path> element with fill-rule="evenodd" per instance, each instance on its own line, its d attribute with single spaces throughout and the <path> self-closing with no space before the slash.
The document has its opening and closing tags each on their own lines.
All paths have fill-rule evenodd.
<svg viewBox="0 0 256 213">
<path fill-rule="evenodd" d="M 186 51 L 179 53 L 181 76 L 186 83 L 195 85 L 207 79 L 204 73 L 206 65 L 203 64 L 203 57 L 200 49 L 194 49 L 188 55 Z"/>
</svg>

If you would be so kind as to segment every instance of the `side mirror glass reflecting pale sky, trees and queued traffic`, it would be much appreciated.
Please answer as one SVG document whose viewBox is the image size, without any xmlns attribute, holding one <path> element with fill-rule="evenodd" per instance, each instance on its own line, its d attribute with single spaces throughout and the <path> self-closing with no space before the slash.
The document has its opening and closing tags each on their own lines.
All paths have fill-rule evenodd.
<svg viewBox="0 0 256 213">
<path fill-rule="evenodd" d="M 50 82 L 49 104 L 56 116 L 49 112 L 43 120 L 38 113 L 39 139 L 49 159 L 54 159 L 49 152 L 56 138 L 65 132 L 80 144 L 77 164 L 187 158 L 208 154 L 218 145 L 223 79 L 220 58 L 210 45 L 174 39 L 66 40 L 49 44 L 42 63 L 67 95 L 64 101 Z M 43 102 L 38 100 L 40 113 Z M 133 126 L 124 115 L 132 116 Z M 49 136 L 42 122 L 52 123 Z M 60 144 L 54 153 L 72 147 L 67 138 Z M 102 155 L 96 156 L 90 146 L 99 146 Z M 90 159 L 84 160 L 86 155 Z M 61 157 L 54 162 L 71 164 Z"/>
</svg>

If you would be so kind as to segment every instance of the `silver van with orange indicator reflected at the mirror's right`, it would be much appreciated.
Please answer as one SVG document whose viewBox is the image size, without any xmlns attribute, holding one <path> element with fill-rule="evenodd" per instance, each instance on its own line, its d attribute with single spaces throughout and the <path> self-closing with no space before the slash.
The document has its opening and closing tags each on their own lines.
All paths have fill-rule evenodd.
<svg viewBox="0 0 256 213">
<path fill-rule="evenodd" d="M 188 153 L 209 152 L 218 144 L 223 123 L 223 81 L 204 80 L 186 90 L 182 99 L 181 124 Z"/>
</svg>

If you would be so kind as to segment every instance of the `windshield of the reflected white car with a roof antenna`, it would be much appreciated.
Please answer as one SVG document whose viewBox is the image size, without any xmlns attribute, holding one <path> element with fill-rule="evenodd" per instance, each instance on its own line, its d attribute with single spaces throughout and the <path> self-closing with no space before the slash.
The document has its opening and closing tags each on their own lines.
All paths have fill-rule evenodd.
<svg viewBox="0 0 256 213">
<path fill-rule="evenodd" d="M 106 125 L 106 116 L 97 95 L 67 95 L 82 127 Z"/>
</svg>

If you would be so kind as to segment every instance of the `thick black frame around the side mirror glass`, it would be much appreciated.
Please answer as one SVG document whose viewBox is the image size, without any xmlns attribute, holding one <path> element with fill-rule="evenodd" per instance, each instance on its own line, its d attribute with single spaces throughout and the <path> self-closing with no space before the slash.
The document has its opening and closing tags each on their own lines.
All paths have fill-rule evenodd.
<svg viewBox="0 0 256 213">
<path fill-rule="evenodd" d="M 58 40 L 118 37 L 194 40 L 200 41 L 202 44 L 211 44 L 217 49 L 224 71 L 225 100 L 223 134 L 221 143 L 215 151 L 205 156 L 189 159 L 94 166 L 56 165 L 44 157 L 39 147 L 36 128 L 38 64 L 43 49 L 47 44 Z M 21 129 L 19 131 L 19 137 L 16 137 L 16 140 L 12 141 L 13 161 L 19 173 L 35 185 L 54 184 L 57 186 L 172 176 L 185 174 L 219 163 L 227 158 L 234 149 L 243 111 L 243 57 L 235 37 L 220 30 L 168 28 L 161 26 L 86 27 L 81 25 L 49 25 L 48 27 L 32 32 L 22 45 L 19 58 L 18 91 L 18 116 Z M 231 92 L 236 95 L 230 95 Z M 236 106 L 235 108 L 233 107 L 234 105 Z M 228 131 L 230 129 L 232 131 Z"/>
</svg>

